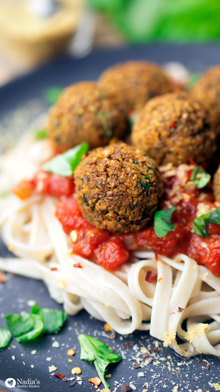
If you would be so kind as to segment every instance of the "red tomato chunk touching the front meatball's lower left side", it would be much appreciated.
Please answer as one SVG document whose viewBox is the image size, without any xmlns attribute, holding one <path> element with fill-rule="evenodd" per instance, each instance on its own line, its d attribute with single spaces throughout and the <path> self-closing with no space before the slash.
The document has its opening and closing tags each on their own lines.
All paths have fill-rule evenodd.
<svg viewBox="0 0 220 392">
<path fill-rule="evenodd" d="M 79 228 L 83 222 L 81 211 L 74 197 L 60 200 L 57 203 L 56 217 L 59 219 L 66 234 Z"/>
</svg>

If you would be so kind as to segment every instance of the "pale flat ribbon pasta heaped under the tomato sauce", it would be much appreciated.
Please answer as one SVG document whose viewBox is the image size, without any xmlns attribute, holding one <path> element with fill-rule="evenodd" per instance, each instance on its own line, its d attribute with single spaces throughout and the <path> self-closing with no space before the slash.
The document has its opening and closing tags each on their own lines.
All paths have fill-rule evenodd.
<svg viewBox="0 0 220 392">
<path fill-rule="evenodd" d="M 25 136 L 1 158 L 2 190 L 31 178 L 51 155 L 47 140 Z M 143 248 L 109 272 L 72 254 L 70 238 L 55 216 L 56 203 L 56 198 L 42 194 L 20 200 L 9 192 L 1 199 L 2 238 L 18 258 L 1 258 L 0 269 L 42 279 L 68 314 L 84 308 L 120 334 L 150 330 L 184 357 L 220 356 L 220 278 L 185 254 L 172 260 Z M 156 281 L 146 281 L 148 272 L 157 274 Z M 185 319 L 187 330 L 182 329 Z M 176 337 L 184 343 L 178 344 Z"/>
</svg>

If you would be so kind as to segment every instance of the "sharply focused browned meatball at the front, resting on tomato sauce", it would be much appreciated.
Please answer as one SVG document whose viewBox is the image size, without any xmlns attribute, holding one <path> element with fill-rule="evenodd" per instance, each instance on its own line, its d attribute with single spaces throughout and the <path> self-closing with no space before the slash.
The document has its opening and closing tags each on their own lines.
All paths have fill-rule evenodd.
<svg viewBox="0 0 220 392">
<path fill-rule="evenodd" d="M 74 178 L 84 218 L 112 232 L 145 227 L 163 192 L 156 163 L 122 142 L 89 152 Z"/>
</svg>

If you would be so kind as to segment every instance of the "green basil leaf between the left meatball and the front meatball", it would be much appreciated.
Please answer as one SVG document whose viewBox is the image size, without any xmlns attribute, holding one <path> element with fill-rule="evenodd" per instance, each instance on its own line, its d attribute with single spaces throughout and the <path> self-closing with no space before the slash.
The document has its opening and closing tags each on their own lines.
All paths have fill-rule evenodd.
<svg viewBox="0 0 220 392">
<path fill-rule="evenodd" d="M 58 154 L 50 161 L 44 163 L 43 170 L 58 174 L 59 176 L 70 177 L 82 160 L 82 156 L 88 151 L 87 142 L 67 150 L 63 154 Z"/>
</svg>

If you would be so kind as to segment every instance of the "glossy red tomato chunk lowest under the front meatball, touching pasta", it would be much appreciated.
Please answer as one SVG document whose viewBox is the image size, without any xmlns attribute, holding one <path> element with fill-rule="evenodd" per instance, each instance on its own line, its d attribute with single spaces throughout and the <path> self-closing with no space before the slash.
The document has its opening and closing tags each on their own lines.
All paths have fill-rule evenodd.
<svg viewBox="0 0 220 392">
<path fill-rule="evenodd" d="M 108 271 L 116 271 L 128 260 L 129 252 L 121 241 L 109 240 L 94 250 L 95 260 Z"/>
</svg>

